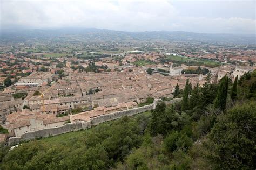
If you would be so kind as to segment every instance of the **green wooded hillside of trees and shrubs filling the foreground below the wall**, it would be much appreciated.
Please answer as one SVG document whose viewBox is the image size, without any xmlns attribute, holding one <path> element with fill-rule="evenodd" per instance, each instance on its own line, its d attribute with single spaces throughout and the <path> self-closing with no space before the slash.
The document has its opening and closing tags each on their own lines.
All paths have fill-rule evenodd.
<svg viewBox="0 0 256 170">
<path fill-rule="evenodd" d="M 203 87 L 187 80 L 176 104 L 9 152 L 1 147 L 0 168 L 255 169 L 256 71 L 236 81 L 215 84 L 208 74 Z"/>
</svg>

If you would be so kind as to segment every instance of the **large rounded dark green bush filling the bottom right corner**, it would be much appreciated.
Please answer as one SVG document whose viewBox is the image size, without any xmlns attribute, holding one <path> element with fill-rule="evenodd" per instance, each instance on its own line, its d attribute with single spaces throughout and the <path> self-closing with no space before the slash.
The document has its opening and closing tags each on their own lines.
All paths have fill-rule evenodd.
<svg viewBox="0 0 256 170">
<path fill-rule="evenodd" d="M 256 168 L 256 102 L 220 115 L 208 135 L 208 158 L 214 169 Z"/>
</svg>

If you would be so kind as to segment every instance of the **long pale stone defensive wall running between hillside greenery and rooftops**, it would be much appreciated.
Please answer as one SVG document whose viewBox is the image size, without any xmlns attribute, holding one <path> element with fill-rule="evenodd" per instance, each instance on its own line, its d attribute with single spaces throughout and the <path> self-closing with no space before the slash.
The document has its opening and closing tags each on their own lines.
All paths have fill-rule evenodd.
<svg viewBox="0 0 256 170">
<path fill-rule="evenodd" d="M 181 98 L 175 98 L 171 101 L 164 101 L 164 102 L 166 104 L 172 104 L 172 103 L 178 102 L 180 100 L 181 100 Z M 58 134 L 68 133 L 68 132 L 72 132 L 72 131 L 78 131 L 80 129 L 89 129 L 92 126 L 96 126 L 103 122 L 112 121 L 112 120 L 115 120 L 115 119 L 118 119 L 118 118 L 121 118 L 124 116 L 136 115 L 141 112 L 155 109 L 157 103 L 159 103 L 159 102 L 161 102 L 160 99 L 155 99 L 153 104 L 145 105 L 144 107 L 139 107 L 139 108 L 117 111 L 117 112 L 113 112 L 111 114 L 100 115 L 100 116 L 91 118 L 90 121 L 87 121 L 87 122 L 81 121 L 81 122 L 75 122 L 75 123 L 68 123 L 63 126 L 59 126 L 59 127 L 55 127 L 55 128 L 46 128 L 46 129 L 28 132 L 28 133 L 23 134 L 21 137 L 9 138 L 8 145 L 15 145 L 21 141 L 32 140 L 35 138 L 56 136 Z"/>
</svg>

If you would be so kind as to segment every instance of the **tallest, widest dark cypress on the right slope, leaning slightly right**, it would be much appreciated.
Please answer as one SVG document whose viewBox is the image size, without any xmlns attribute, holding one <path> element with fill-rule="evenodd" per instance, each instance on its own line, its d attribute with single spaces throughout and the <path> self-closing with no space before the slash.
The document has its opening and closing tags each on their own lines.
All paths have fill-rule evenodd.
<svg viewBox="0 0 256 170">
<path fill-rule="evenodd" d="M 225 75 L 223 79 L 219 81 L 217 96 L 214 102 L 214 108 L 220 108 L 222 111 L 226 109 L 227 103 L 227 91 L 228 91 L 228 77 Z"/>
</svg>

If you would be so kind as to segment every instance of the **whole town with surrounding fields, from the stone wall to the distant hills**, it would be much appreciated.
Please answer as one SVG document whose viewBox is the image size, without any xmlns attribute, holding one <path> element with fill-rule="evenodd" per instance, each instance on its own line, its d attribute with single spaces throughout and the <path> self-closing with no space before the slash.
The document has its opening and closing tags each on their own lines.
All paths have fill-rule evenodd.
<svg viewBox="0 0 256 170">
<path fill-rule="evenodd" d="M 0 47 L 0 124 L 7 137 L 89 121 L 138 108 L 154 99 L 172 100 L 189 79 L 202 86 L 210 74 L 233 81 L 256 68 L 256 50 L 203 43 L 137 43 Z M 54 51 L 51 51 L 54 48 Z M 72 50 L 70 50 L 72 49 Z"/>
</svg>

